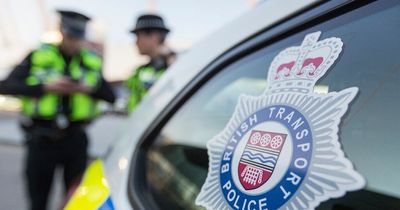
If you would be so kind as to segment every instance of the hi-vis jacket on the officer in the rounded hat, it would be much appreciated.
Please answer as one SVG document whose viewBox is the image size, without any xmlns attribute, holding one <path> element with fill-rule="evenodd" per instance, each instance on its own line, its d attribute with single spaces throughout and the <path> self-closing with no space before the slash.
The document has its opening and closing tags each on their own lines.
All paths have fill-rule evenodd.
<svg viewBox="0 0 400 210">
<path fill-rule="evenodd" d="M 132 112 L 136 105 L 142 100 L 150 87 L 164 74 L 165 69 L 156 69 L 153 66 L 141 66 L 125 82 L 129 89 L 128 111 Z"/>
</svg>

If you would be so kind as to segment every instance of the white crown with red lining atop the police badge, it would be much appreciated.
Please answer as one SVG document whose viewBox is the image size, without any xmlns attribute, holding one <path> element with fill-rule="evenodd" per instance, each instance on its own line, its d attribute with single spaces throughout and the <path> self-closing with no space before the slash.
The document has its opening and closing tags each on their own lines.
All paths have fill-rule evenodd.
<svg viewBox="0 0 400 210">
<path fill-rule="evenodd" d="M 321 32 L 308 34 L 300 46 L 280 52 L 268 70 L 267 93 L 309 93 L 342 51 L 340 38 L 318 41 Z"/>
</svg>

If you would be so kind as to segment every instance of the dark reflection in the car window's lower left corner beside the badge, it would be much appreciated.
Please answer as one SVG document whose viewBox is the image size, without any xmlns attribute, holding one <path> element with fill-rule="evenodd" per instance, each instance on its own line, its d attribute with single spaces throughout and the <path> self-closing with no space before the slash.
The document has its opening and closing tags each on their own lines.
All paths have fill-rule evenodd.
<svg viewBox="0 0 400 210">
<path fill-rule="evenodd" d="M 148 154 L 148 182 L 153 183 L 157 200 L 166 206 L 176 203 L 181 209 L 204 209 L 194 204 L 207 176 L 207 150 L 182 145 L 168 145 Z M 197 159 L 200 158 L 200 159 Z M 162 193 L 160 193 L 162 192 Z"/>
</svg>

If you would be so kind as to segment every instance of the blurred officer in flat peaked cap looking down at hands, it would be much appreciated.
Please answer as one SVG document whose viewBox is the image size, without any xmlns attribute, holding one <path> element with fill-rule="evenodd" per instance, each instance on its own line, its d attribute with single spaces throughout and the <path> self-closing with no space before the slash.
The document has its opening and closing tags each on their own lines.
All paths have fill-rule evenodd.
<svg viewBox="0 0 400 210">
<path fill-rule="evenodd" d="M 1 93 L 22 96 L 32 210 L 46 209 L 56 167 L 63 168 L 65 190 L 79 180 L 88 159 L 85 126 L 98 114 L 99 99 L 115 100 L 102 77 L 102 60 L 83 48 L 90 18 L 74 11 L 59 13 L 61 44 L 32 51 L 0 85 Z"/>
</svg>

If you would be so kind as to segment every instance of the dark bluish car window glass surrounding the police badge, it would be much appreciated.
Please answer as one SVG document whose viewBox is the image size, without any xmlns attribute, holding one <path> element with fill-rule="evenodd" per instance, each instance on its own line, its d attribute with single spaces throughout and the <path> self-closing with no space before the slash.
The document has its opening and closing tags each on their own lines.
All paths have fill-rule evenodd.
<svg viewBox="0 0 400 210">
<path fill-rule="evenodd" d="M 367 180 L 363 190 L 322 203 L 318 209 L 394 209 L 400 205 L 400 6 L 373 3 L 285 37 L 223 68 L 163 126 L 146 155 L 146 182 L 162 209 L 195 205 L 207 177 L 206 144 L 228 123 L 241 94 L 260 95 L 267 69 L 281 50 L 322 31 L 344 50 L 315 92 L 359 88 L 342 119 L 339 139 Z M 368 201 L 368 202 L 367 202 Z"/>
</svg>

